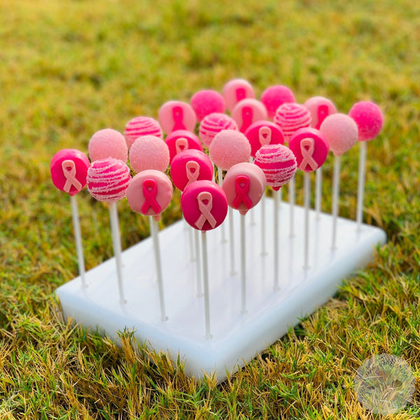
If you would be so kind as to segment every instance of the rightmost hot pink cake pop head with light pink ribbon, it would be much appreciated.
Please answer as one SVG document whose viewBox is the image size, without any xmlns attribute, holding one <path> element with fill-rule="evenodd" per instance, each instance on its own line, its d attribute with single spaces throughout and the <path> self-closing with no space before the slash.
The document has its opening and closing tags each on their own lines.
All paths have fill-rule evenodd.
<svg viewBox="0 0 420 420">
<path fill-rule="evenodd" d="M 311 172 L 323 165 L 328 155 L 328 141 L 315 128 L 300 128 L 289 141 L 290 151 L 296 158 L 297 167 L 304 172 Z"/>
</svg>

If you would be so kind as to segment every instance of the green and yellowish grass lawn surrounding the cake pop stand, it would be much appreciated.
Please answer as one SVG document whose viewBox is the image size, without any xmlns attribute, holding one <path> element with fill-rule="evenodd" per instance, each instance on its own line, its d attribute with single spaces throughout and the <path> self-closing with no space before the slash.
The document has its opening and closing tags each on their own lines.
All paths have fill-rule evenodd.
<svg viewBox="0 0 420 420">
<path fill-rule="evenodd" d="M 420 3 L 0 0 L 0 415 L 2 419 L 374 419 L 352 381 L 392 353 L 416 377 L 395 419 L 420 416 Z M 50 181 L 61 148 L 87 150 L 169 99 L 234 77 L 259 95 L 288 85 L 340 111 L 386 116 L 369 145 L 365 221 L 388 244 L 334 298 L 222 384 L 195 381 L 123 333 L 123 348 L 63 323 L 52 293 L 77 272 L 68 197 Z M 331 160 L 325 169 L 331 169 Z M 357 151 L 343 160 L 353 218 Z M 330 184 L 325 182 L 328 197 Z M 87 269 L 112 254 L 106 208 L 80 194 Z M 325 209 L 330 202 L 325 199 Z M 148 235 L 119 204 L 123 247 Z M 176 205 L 163 215 L 179 218 Z"/>
</svg>

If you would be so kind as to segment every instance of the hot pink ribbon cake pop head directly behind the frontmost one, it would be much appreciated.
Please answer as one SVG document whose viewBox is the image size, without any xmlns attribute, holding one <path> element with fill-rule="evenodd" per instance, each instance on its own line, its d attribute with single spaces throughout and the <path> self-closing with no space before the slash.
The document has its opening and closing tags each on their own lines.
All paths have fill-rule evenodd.
<svg viewBox="0 0 420 420">
<path fill-rule="evenodd" d="M 214 168 L 209 156 L 195 149 L 178 153 L 172 160 L 172 182 L 181 191 L 195 181 L 211 181 L 213 172 Z"/>
</svg>

